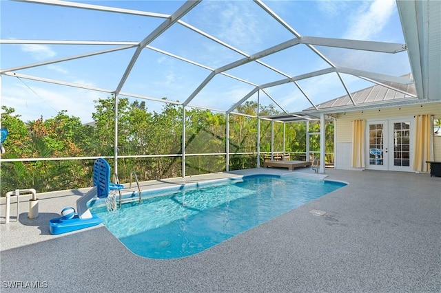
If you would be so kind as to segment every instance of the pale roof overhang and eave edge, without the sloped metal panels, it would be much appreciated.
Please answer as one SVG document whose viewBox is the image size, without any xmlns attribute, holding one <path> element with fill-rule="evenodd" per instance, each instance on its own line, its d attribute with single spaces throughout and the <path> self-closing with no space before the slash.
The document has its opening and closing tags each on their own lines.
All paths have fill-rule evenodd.
<svg viewBox="0 0 441 293">
<path fill-rule="evenodd" d="M 404 105 L 431 104 L 441 101 L 441 1 L 401 1 L 398 0 L 398 12 L 402 23 L 404 39 L 413 85 L 416 97 L 400 98 L 398 100 L 382 100 L 367 102 L 359 105 L 342 105 L 337 107 L 316 107 L 296 113 L 283 113 L 265 117 L 280 122 L 294 122 L 308 119 L 319 119 L 322 113 L 344 113 L 380 109 L 385 107 L 400 107 Z M 402 83 L 402 80 L 391 80 Z M 378 83 L 379 84 L 379 83 Z"/>
</svg>

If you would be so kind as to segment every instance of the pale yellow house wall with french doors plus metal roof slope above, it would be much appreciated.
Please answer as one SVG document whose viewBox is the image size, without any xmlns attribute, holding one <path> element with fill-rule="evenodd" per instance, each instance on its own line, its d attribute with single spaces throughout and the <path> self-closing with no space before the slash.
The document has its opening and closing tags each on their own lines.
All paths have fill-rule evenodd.
<svg viewBox="0 0 441 293">
<path fill-rule="evenodd" d="M 403 77 L 412 78 L 411 74 Z M 328 118 L 335 120 L 334 167 L 428 172 L 427 160 L 441 161 L 441 135 L 435 135 L 433 129 L 433 120 L 441 119 L 441 101 L 419 102 L 413 96 L 416 96 L 413 84 L 386 83 L 317 105 L 319 111 L 325 111 Z M 353 102 L 357 107 L 351 107 Z M 311 108 L 305 111 L 311 111 Z M 431 135 L 422 139 L 429 144 L 427 154 L 416 150 L 418 134 L 421 133 L 416 121 L 424 115 L 431 122 Z M 359 162 L 354 162 L 354 144 L 357 144 L 354 121 L 362 122 Z"/>
</svg>

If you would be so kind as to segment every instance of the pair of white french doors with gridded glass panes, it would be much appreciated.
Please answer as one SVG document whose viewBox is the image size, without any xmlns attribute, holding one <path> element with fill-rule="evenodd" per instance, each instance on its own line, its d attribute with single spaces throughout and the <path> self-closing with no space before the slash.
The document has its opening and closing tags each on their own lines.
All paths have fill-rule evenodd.
<svg viewBox="0 0 441 293">
<path fill-rule="evenodd" d="M 413 120 L 367 122 L 366 169 L 412 171 Z"/>
</svg>

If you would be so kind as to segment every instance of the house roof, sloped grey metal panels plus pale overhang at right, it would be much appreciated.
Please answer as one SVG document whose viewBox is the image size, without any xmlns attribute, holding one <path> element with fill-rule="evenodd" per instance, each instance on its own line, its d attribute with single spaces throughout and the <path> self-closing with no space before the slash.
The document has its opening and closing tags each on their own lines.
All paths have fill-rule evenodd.
<svg viewBox="0 0 441 293">
<path fill-rule="evenodd" d="M 407 43 L 412 83 L 378 82 L 339 98 L 327 100 L 316 107 L 273 116 L 275 120 L 296 121 L 318 118 L 320 113 L 336 113 L 357 109 L 393 107 L 441 101 L 441 1 L 397 1 L 400 20 Z M 415 74 L 415 76 L 413 76 Z M 360 78 L 364 78 L 360 76 Z"/>
</svg>

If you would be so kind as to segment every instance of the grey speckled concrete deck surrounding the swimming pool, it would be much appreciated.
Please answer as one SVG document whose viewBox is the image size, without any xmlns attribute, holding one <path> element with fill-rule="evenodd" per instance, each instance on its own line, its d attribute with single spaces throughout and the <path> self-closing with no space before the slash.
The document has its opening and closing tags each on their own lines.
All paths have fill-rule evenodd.
<svg viewBox="0 0 441 293">
<path fill-rule="evenodd" d="M 292 172 L 149 184 L 254 171 Z M 49 219 L 79 193 L 38 194 L 37 219 L 22 202 L 16 221 L 12 204 L 8 224 L 1 204 L 1 292 L 441 292 L 441 177 L 326 175 L 349 185 L 183 259 L 138 257 L 101 225 L 50 235 Z"/>
</svg>

